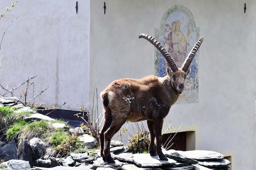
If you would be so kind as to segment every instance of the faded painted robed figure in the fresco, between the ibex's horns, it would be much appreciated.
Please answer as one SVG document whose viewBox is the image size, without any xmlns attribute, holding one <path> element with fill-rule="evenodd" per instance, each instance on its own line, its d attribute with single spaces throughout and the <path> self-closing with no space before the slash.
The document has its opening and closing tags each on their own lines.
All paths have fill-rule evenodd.
<svg viewBox="0 0 256 170">
<path fill-rule="evenodd" d="M 164 42 L 164 48 L 167 49 L 168 53 L 173 57 L 177 66 L 181 67 L 186 58 L 187 41 L 189 39 L 190 29 L 185 37 L 180 31 L 180 20 L 176 20 L 171 26 L 169 24 L 166 24 L 165 26 L 165 31 L 171 31 Z"/>
</svg>

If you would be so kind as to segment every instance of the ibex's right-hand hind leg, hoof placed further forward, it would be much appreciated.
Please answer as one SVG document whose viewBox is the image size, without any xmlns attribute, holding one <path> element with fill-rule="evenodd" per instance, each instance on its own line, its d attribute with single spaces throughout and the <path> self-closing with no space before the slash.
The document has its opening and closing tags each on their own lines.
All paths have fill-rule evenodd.
<svg viewBox="0 0 256 170">
<path fill-rule="evenodd" d="M 108 163 L 115 163 L 114 159 L 110 155 L 110 140 L 115 135 L 116 132 L 121 128 L 121 126 L 126 122 L 126 119 L 124 117 L 121 117 L 121 113 L 119 113 L 120 117 L 118 119 L 113 118 L 112 123 L 108 130 L 104 133 L 104 150 L 103 150 L 103 155 L 104 159 L 108 161 Z"/>
</svg>

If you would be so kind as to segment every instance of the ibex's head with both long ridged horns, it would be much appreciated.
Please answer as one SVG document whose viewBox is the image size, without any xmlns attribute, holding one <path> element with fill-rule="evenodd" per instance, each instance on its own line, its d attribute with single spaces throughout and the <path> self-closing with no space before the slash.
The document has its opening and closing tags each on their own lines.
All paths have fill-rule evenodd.
<svg viewBox="0 0 256 170">
<path fill-rule="evenodd" d="M 198 51 L 200 45 L 202 44 L 203 38 L 201 37 L 196 42 L 189 55 L 186 57 L 186 60 L 182 64 L 181 68 L 177 67 L 171 55 L 164 49 L 164 47 L 159 42 L 157 42 L 157 40 L 155 40 L 155 38 L 147 34 L 141 34 L 139 35 L 139 38 L 145 38 L 162 53 L 167 61 L 168 66 L 166 68 L 166 73 L 171 79 L 171 84 L 173 88 L 175 88 L 179 93 L 182 93 L 184 91 L 185 79 L 191 71 L 189 66 L 195 56 L 195 53 Z"/>
</svg>

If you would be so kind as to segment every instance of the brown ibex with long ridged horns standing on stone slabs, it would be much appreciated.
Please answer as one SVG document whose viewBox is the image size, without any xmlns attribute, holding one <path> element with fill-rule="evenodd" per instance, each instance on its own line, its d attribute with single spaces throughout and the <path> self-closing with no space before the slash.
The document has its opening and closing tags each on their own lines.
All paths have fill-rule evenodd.
<svg viewBox="0 0 256 170">
<path fill-rule="evenodd" d="M 189 66 L 203 41 L 201 37 L 181 68 L 177 68 L 173 58 L 155 38 L 147 34 L 141 34 L 139 38 L 145 38 L 162 53 L 168 64 L 167 75 L 115 80 L 101 92 L 104 112 L 104 122 L 100 132 L 101 157 L 108 163 L 115 163 L 110 155 L 110 140 L 113 135 L 126 121 L 142 120 L 147 120 L 151 136 L 148 147 L 150 155 L 158 155 L 160 160 L 168 160 L 161 150 L 163 119 L 184 91 L 186 76 L 191 71 Z M 154 144 L 155 137 L 157 150 Z"/>
</svg>

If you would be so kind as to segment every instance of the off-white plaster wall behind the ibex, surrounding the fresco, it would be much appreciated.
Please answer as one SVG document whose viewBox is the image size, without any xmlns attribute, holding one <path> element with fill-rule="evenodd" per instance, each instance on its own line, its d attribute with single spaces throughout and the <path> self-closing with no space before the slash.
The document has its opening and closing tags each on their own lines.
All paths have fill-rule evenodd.
<svg viewBox="0 0 256 170">
<path fill-rule="evenodd" d="M 106 15 L 103 5 L 106 2 Z M 188 8 L 204 42 L 199 55 L 199 102 L 172 106 L 165 124 L 199 126 L 201 150 L 234 151 L 236 169 L 256 169 L 256 2 L 231 0 L 91 1 L 90 104 L 115 79 L 154 74 L 154 35 L 173 5 Z M 94 101 L 95 102 L 95 101 Z M 90 105 L 91 106 L 91 105 Z M 99 102 L 99 110 L 101 111 Z"/>
</svg>

